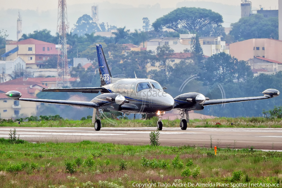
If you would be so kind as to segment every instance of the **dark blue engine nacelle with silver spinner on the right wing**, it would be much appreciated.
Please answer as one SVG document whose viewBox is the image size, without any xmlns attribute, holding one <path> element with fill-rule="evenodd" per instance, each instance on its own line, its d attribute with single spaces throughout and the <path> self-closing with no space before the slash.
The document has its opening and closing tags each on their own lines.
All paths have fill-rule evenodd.
<svg viewBox="0 0 282 188">
<path fill-rule="evenodd" d="M 189 110 L 202 110 L 205 103 L 209 98 L 205 97 L 201 93 L 184 93 L 174 98 L 174 108 L 189 109 Z"/>
</svg>

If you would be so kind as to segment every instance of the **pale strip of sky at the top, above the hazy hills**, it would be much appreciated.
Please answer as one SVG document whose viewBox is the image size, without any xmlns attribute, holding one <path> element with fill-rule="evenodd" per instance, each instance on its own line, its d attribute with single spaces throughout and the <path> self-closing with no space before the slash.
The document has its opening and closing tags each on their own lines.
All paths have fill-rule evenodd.
<svg viewBox="0 0 282 188">
<path fill-rule="evenodd" d="M 67 5 L 82 4 L 82 3 L 101 3 L 101 2 L 110 2 L 110 3 L 119 3 L 132 5 L 134 7 L 142 6 L 144 4 L 154 5 L 159 3 L 161 8 L 174 8 L 177 3 L 183 2 L 185 0 L 66 0 Z M 201 2 L 202 0 L 189 0 Z M 205 0 L 209 2 L 222 3 L 227 5 L 239 5 L 241 0 Z M 261 5 L 265 9 L 278 9 L 278 0 L 251 0 L 253 8 L 259 8 Z M 0 10 L 2 8 L 19 8 L 22 10 L 31 9 L 31 10 L 50 10 L 58 6 L 57 0 L 0 0 Z"/>
</svg>

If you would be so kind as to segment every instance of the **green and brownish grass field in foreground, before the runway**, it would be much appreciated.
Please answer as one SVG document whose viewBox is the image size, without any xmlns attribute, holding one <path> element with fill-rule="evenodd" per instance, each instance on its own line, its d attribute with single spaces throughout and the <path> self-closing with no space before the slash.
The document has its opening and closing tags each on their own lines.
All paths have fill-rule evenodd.
<svg viewBox="0 0 282 188">
<path fill-rule="evenodd" d="M 231 183 L 276 184 L 282 180 L 282 153 L 252 148 L 218 148 L 215 156 L 212 149 L 190 146 L 90 141 L 10 144 L 2 138 L 0 161 L 0 185 L 4 188 L 134 187 L 133 183 L 185 187 L 173 183 L 188 182 L 220 182 L 232 187 Z"/>
</svg>

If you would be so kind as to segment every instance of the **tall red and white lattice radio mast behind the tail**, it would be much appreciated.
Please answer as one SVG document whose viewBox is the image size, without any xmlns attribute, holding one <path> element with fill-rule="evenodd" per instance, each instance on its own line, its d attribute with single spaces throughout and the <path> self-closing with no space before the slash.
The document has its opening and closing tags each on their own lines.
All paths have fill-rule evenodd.
<svg viewBox="0 0 282 188">
<path fill-rule="evenodd" d="M 58 0 L 58 24 L 57 33 L 59 34 L 58 46 L 58 66 L 57 66 L 57 86 L 69 84 L 68 80 L 68 57 L 66 46 L 66 34 L 69 32 L 67 18 L 66 0 Z"/>
</svg>

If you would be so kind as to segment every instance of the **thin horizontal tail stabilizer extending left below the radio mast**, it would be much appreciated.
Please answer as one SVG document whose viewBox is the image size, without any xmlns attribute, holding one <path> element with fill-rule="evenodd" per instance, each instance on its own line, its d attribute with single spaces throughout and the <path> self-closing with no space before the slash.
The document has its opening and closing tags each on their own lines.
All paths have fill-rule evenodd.
<svg viewBox="0 0 282 188">
<path fill-rule="evenodd" d="M 74 88 L 43 88 L 41 92 L 81 92 L 81 93 L 99 93 L 99 91 L 103 93 L 110 93 L 104 87 L 74 87 Z"/>
</svg>

